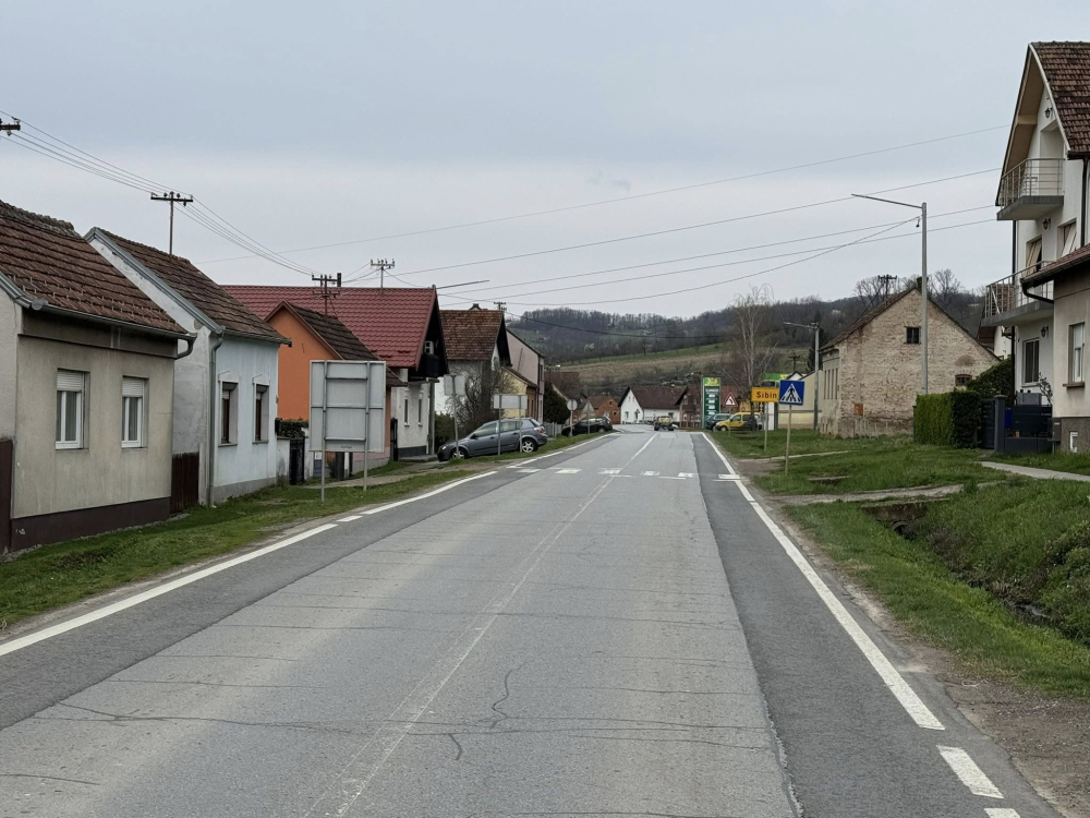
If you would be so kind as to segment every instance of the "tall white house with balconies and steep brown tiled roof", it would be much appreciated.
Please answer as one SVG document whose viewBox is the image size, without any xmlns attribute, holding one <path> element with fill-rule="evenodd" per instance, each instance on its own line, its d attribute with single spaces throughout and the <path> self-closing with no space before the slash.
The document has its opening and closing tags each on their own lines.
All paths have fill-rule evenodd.
<svg viewBox="0 0 1090 818">
<path fill-rule="evenodd" d="M 982 326 L 1010 337 L 1019 400 L 1037 402 L 1065 342 L 1054 318 L 1054 284 L 1030 279 L 1087 243 L 1090 161 L 1090 43 L 1032 43 L 1026 53 L 1003 158 L 996 218 L 1010 222 L 1010 272 L 985 289 Z M 1047 388 L 1043 389 L 1045 393 Z"/>
</svg>

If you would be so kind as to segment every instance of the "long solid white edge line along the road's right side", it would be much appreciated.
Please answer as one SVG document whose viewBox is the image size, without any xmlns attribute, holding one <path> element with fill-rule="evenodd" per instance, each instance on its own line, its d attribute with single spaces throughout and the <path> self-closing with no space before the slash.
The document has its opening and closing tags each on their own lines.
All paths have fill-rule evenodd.
<svg viewBox="0 0 1090 818">
<path fill-rule="evenodd" d="M 707 435 L 705 435 L 706 437 Z M 707 444 L 712 446 L 716 453 L 718 453 L 718 447 L 708 440 Z M 719 456 L 723 457 L 722 453 Z M 724 462 L 726 459 L 724 458 Z M 729 466 L 729 464 L 728 464 Z M 848 610 L 840 603 L 840 600 L 828 589 L 825 581 L 818 576 L 818 572 L 813 569 L 807 558 L 802 556 L 802 552 L 799 551 L 798 546 L 791 542 L 790 538 L 784 533 L 783 529 L 776 525 L 776 522 L 768 516 L 768 513 L 764 510 L 760 503 L 758 503 L 753 495 L 750 494 L 746 485 L 739 480 L 735 482 L 738 490 L 742 493 L 742 496 L 749 501 L 750 507 L 756 513 L 756 516 L 761 518 L 765 527 L 772 531 L 773 537 L 779 542 L 784 551 L 787 552 L 787 556 L 790 557 L 791 562 L 802 572 L 802 576 L 807 578 L 811 587 L 818 591 L 818 596 L 821 601 L 825 603 L 825 608 L 829 610 L 833 617 L 840 624 L 851 640 L 856 643 L 856 647 L 862 651 L 863 655 L 867 657 L 867 661 L 871 663 L 874 671 L 882 677 L 886 687 L 889 691 L 897 698 L 900 706 L 905 708 L 908 714 L 912 718 L 919 726 L 927 730 L 945 730 L 943 723 L 935 718 L 935 714 L 931 712 L 923 700 L 916 695 L 916 690 L 909 687 L 908 683 L 905 681 L 904 676 L 897 672 L 897 669 L 893 666 L 893 663 L 886 659 L 885 653 L 879 650 L 879 647 L 873 642 L 873 640 L 867 635 L 857 623 Z"/>
</svg>

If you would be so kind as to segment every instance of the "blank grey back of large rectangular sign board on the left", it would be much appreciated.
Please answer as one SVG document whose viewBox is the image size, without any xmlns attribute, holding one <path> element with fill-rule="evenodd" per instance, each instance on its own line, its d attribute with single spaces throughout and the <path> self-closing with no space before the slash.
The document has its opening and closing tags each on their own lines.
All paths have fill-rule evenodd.
<svg viewBox="0 0 1090 818">
<path fill-rule="evenodd" d="M 311 361 L 311 450 L 386 450 L 386 363 Z"/>
</svg>

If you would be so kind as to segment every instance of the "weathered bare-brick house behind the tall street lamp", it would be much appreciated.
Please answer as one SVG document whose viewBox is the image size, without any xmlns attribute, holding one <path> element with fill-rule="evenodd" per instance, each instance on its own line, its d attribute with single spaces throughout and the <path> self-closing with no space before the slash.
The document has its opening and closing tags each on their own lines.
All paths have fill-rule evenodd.
<svg viewBox="0 0 1090 818">
<path fill-rule="evenodd" d="M 820 430 L 856 437 L 908 434 L 920 387 L 920 286 L 863 313 L 821 348 Z M 933 393 L 964 386 L 998 361 L 938 304 L 928 313 Z"/>
</svg>

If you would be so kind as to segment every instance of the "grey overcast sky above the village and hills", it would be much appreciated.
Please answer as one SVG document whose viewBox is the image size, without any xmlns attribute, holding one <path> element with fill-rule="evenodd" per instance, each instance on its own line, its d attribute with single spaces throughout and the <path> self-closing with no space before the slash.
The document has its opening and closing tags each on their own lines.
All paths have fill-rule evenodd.
<svg viewBox="0 0 1090 818">
<path fill-rule="evenodd" d="M 910 210 L 851 201 L 665 236 L 497 256 L 729 219 L 997 168 L 1030 40 L 1090 36 L 1090 3 L 351 2 L 0 3 L 0 110 L 179 190 L 277 251 L 350 242 L 695 184 L 993 127 L 973 136 L 685 192 L 288 257 L 347 276 L 393 257 L 416 285 L 504 297 L 513 312 L 585 305 L 690 315 L 751 284 L 777 298 L 847 294 L 917 275 L 906 238 L 806 257 L 855 232 L 702 262 L 542 278 L 886 225 Z M 4 121 L 10 121 L 4 119 Z M 33 134 L 34 132 L 28 132 Z M 9 140 L 2 140 L 3 143 Z M 996 171 L 889 194 L 927 200 L 932 270 L 1009 272 Z M 166 246 L 145 193 L 0 144 L 0 199 Z M 870 232 L 873 232 L 870 231 Z M 303 284 L 179 218 L 175 251 L 232 284 Z M 722 262 L 654 279 L 633 276 Z M 565 285 L 600 284 L 559 292 Z M 716 286 L 678 294 L 681 288 Z M 536 294 L 520 294 L 535 293 Z M 629 300 L 626 300 L 629 299 Z M 445 305 L 465 302 L 444 298 Z"/>
</svg>

